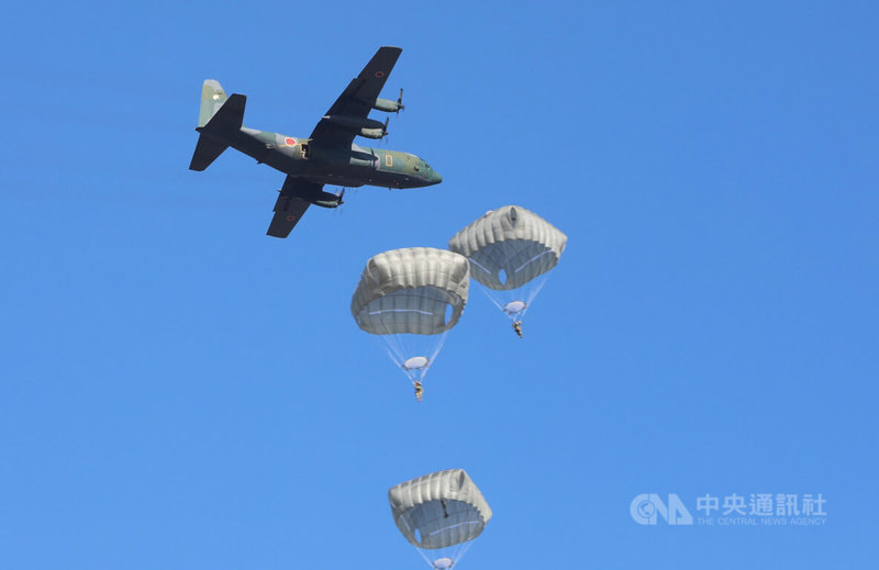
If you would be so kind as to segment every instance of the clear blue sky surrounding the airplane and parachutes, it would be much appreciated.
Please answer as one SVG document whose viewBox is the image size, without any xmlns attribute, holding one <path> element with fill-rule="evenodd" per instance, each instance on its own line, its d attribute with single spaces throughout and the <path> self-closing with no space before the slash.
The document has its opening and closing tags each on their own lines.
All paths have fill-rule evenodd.
<svg viewBox="0 0 879 570">
<path fill-rule="evenodd" d="M 874 566 L 878 27 L 874 2 L 8 8 L 0 567 L 421 568 L 387 489 L 456 467 L 494 510 L 465 570 Z M 305 136 L 380 45 L 382 144 L 442 185 L 279 241 L 282 175 L 187 170 L 203 79 Z M 472 295 L 419 405 L 354 324 L 359 272 L 511 203 L 568 249 L 524 340 Z M 649 492 L 827 517 L 641 526 Z"/>
</svg>

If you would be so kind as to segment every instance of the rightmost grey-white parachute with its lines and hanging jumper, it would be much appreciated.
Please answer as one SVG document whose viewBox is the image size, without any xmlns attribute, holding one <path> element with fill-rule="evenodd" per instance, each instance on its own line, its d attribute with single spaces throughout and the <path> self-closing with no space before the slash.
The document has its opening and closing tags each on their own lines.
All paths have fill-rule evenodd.
<svg viewBox="0 0 879 570">
<path fill-rule="evenodd" d="M 522 318 L 565 250 L 568 237 L 519 205 L 487 212 L 455 234 L 452 252 L 470 260 L 470 276 L 522 336 Z"/>
</svg>

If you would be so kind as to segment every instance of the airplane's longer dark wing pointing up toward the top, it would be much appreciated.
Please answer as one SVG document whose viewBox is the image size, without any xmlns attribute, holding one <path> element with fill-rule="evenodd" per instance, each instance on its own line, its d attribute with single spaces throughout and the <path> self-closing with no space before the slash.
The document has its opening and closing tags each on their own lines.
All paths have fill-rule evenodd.
<svg viewBox="0 0 879 570">
<path fill-rule="evenodd" d="M 397 64 L 400 52 L 402 49 L 399 47 L 379 47 L 360 75 L 348 83 L 325 114 L 366 119 Z M 346 147 L 351 146 L 355 136 L 352 130 L 333 124 L 326 119 L 322 119 L 311 133 L 311 138 L 315 142 Z"/>
</svg>

